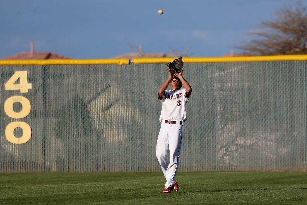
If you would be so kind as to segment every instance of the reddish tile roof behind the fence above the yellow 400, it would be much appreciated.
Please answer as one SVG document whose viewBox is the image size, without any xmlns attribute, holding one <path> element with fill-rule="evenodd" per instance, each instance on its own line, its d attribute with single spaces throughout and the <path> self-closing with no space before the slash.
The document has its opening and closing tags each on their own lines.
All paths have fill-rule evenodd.
<svg viewBox="0 0 307 205">
<path fill-rule="evenodd" d="M 30 52 L 17 53 L 15 55 L 2 58 L 1 60 L 46 60 L 46 59 L 73 59 L 67 56 L 63 56 L 52 52 Z"/>
</svg>

